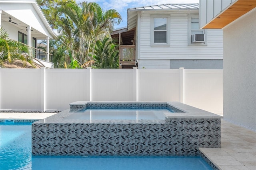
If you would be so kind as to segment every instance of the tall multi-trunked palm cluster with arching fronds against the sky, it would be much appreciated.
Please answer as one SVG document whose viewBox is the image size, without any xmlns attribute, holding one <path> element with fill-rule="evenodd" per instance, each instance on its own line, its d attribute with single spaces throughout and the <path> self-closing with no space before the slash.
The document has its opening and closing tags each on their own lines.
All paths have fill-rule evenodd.
<svg viewBox="0 0 256 170">
<path fill-rule="evenodd" d="M 69 47 L 76 49 L 76 58 L 79 58 L 80 64 L 92 60 L 96 41 L 101 35 L 108 34 L 115 23 L 120 23 L 120 14 L 116 10 L 103 12 L 95 2 L 76 4 L 73 0 L 63 0 L 59 5 L 57 14 L 65 18 L 63 23 L 68 23 L 60 25 L 61 32 L 67 37 L 71 36 L 70 31 L 74 33 L 73 38 L 69 37 L 72 42 Z"/>
</svg>

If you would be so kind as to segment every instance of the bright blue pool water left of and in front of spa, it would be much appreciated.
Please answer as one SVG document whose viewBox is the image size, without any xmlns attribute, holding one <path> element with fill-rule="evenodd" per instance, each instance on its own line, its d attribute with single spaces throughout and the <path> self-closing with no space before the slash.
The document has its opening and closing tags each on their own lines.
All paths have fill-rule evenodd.
<svg viewBox="0 0 256 170">
<path fill-rule="evenodd" d="M 0 170 L 212 170 L 200 157 L 32 156 L 31 123 L 0 123 Z"/>
</svg>

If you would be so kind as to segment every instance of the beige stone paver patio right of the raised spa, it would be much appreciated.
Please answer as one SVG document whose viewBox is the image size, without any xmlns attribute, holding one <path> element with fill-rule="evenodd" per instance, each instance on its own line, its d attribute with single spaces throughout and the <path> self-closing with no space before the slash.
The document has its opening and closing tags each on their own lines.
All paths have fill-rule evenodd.
<svg viewBox="0 0 256 170">
<path fill-rule="evenodd" d="M 221 148 L 200 148 L 220 170 L 256 170 L 256 131 L 221 120 Z"/>
</svg>

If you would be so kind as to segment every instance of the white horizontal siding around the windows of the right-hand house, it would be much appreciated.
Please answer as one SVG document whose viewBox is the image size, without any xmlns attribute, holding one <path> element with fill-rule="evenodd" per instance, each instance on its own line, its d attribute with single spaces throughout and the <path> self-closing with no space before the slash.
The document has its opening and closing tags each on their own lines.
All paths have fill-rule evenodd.
<svg viewBox="0 0 256 170">
<path fill-rule="evenodd" d="M 140 21 L 140 60 L 222 59 L 222 30 L 207 30 L 207 45 L 188 45 L 188 14 L 170 14 L 170 46 L 150 45 L 150 12 L 143 12 Z"/>
</svg>

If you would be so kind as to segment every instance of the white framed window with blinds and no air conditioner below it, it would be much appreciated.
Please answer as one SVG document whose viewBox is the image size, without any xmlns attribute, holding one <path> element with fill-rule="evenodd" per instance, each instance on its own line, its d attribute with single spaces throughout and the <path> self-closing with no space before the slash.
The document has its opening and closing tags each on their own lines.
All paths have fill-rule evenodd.
<svg viewBox="0 0 256 170">
<path fill-rule="evenodd" d="M 170 45 L 170 16 L 151 16 L 151 46 Z"/>
</svg>

